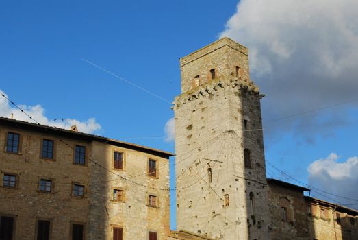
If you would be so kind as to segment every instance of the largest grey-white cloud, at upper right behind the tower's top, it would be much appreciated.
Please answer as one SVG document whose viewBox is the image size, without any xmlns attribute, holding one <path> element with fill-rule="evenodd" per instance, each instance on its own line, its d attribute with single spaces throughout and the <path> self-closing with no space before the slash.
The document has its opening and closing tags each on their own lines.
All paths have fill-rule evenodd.
<svg viewBox="0 0 358 240">
<path fill-rule="evenodd" d="M 356 98 L 357 15 L 356 0 L 242 0 L 238 3 L 220 37 L 228 36 L 248 47 L 251 75 L 266 94 L 264 119 Z M 307 125 L 308 117 L 314 120 L 309 123 L 314 124 L 318 116 L 304 117 Z M 285 129 L 282 124 L 287 124 L 288 130 L 300 128 L 299 124 L 281 121 L 281 131 Z M 311 134 L 305 128 L 296 132 Z"/>
</svg>

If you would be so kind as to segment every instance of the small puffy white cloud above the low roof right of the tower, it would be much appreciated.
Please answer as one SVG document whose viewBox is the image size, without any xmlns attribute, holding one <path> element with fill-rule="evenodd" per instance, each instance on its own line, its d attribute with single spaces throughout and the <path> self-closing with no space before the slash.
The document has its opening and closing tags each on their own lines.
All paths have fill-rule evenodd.
<svg viewBox="0 0 358 240">
<path fill-rule="evenodd" d="M 315 160 L 308 167 L 310 185 L 335 195 L 350 197 L 357 201 L 345 200 L 340 197 L 333 198 L 340 203 L 358 203 L 358 157 L 353 156 L 344 162 L 339 162 L 339 156 L 335 153 L 329 154 L 327 158 Z M 322 195 L 318 197 L 324 198 Z M 331 201 L 330 199 L 327 199 Z"/>
</svg>

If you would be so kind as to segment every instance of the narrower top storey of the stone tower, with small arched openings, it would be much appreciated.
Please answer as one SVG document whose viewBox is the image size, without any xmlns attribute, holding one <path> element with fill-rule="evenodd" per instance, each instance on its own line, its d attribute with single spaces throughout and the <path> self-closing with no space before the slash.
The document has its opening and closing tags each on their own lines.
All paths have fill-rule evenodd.
<svg viewBox="0 0 358 240">
<path fill-rule="evenodd" d="M 230 38 L 221 38 L 179 61 L 181 93 L 212 82 L 222 75 L 250 82 L 248 49 Z"/>
</svg>

